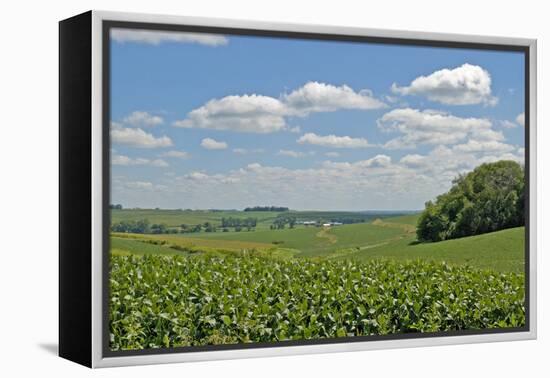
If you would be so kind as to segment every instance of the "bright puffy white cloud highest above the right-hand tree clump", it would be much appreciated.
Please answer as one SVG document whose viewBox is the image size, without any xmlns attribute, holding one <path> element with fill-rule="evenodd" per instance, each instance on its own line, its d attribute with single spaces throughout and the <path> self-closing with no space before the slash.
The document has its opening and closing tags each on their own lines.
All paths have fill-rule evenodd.
<svg viewBox="0 0 550 378">
<path fill-rule="evenodd" d="M 426 96 L 431 101 L 447 105 L 496 105 L 491 94 L 491 75 L 480 66 L 465 63 L 453 69 L 442 69 L 414 79 L 408 86 L 392 85 L 401 95 Z"/>
</svg>

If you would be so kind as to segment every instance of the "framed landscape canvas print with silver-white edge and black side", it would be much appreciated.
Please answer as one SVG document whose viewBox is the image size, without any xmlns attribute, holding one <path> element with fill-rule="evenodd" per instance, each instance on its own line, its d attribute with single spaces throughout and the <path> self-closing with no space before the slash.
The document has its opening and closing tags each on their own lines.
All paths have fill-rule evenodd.
<svg viewBox="0 0 550 378">
<path fill-rule="evenodd" d="M 536 337 L 536 42 L 60 22 L 60 355 Z"/>
</svg>

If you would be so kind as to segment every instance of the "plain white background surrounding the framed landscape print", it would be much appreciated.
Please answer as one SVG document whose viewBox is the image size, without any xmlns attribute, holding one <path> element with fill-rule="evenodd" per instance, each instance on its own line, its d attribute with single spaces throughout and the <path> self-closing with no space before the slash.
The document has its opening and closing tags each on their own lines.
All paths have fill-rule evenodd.
<svg viewBox="0 0 550 378">
<path fill-rule="evenodd" d="M 549 326 L 539 217 L 539 340 L 104 369 L 54 356 L 57 343 L 57 21 L 94 8 L 190 16 L 488 34 L 539 39 L 539 193 L 548 189 L 550 41 L 544 1 L 299 0 L 6 1 L 0 22 L 0 375 L 4 377 L 461 377 L 542 376 Z M 545 25 L 546 24 L 546 25 Z M 291 57 L 289 57 L 291 59 Z M 539 211 L 547 202 L 539 197 Z M 545 324 L 546 323 L 546 324 Z M 48 374 L 49 373 L 49 374 Z"/>
</svg>

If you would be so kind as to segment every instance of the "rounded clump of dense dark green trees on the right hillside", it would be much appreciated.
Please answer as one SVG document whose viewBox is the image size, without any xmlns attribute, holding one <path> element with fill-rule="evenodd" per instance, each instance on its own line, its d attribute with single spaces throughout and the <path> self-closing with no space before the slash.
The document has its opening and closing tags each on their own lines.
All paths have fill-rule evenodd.
<svg viewBox="0 0 550 378">
<path fill-rule="evenodd" d="M 525 172 L 514 161 L 485 163 L 428 201 L 418 220 L 421 242 L 479 235 L 525 225 Z"/>
</svg>

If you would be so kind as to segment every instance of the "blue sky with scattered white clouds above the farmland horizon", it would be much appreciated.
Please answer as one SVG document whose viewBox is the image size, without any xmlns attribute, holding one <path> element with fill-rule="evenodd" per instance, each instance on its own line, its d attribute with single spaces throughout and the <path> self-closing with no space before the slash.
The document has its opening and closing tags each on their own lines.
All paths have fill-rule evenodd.
<svg viewBox="0 0 550 378">
<path fill-rule="evenodd" d="M 114 29 L 112 202 L 411 210 L 523 161 L 514 52 Z"/>
</svg>

